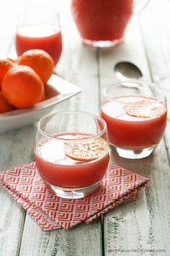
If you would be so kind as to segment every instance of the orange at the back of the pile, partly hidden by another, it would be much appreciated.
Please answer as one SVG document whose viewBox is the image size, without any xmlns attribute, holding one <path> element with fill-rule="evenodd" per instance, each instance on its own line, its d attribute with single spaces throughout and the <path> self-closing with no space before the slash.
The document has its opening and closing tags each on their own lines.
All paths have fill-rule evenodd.
<svg viewBox="0 0 170 256">
<path fill-rule="evenodd" d="M 32 49 L 20 56 L 19 65 L 27 65 L 35 70 L 44 84 L 53 74 L 54 63 L 52 57 L 43 50 Z"/>
</svg>

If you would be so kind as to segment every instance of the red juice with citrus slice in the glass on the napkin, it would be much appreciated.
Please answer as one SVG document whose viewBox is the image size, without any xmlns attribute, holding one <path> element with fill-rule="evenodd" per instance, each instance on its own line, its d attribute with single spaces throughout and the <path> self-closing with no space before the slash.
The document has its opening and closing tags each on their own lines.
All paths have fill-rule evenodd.
<svg viewBox="0 0 170 256">
<path fill-rule="evenodd" d="M 35 148 L 35 162 L 40 176 L 45 182 L 57 187 L 86 187 L 99 182 L 107 170 L 109 148 L 102 138 L 89 142 L 76 142 L 82 134 L 55 135 L 62 140 L 42 139 Z M 91 152 L 91 147 L 97 151 Z M 85 151 L 84 151 L 85 150 Z M 88 152 L 87 152 L 87 151 Z M 87 157 L 86 157 L 87 154 Z"/>
</svg>

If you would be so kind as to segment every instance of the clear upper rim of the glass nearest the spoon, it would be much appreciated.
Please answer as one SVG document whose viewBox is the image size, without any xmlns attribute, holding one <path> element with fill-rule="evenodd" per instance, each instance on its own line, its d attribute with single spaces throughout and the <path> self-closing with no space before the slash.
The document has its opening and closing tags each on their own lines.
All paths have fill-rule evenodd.
<svg viewBox="0 0 170 256">
<path fill-rule="evenodd" d="M 151 105 L 151 104 L 155 104 L 155 103 L 158 103 L 158 102 L 160 102 L 160 101 L 162 101 L 162 100 L 166 100 L 166 94 L 165 94 L 165 91 L 164 91 L 164 89 L 163 88 L 161 88 L 161 86 L 160 85 L 158 85 L 158 84 L 156 84 L 156 83 L 154 83 L 154 82 L 147 82 L 147 81 L 139 81 L 139 80 L 125 80 L 125 81 L 117 81 L 117 82 L 112 82 L 112 83 L 109 83 L 109 84 L 107 84 L 107 86 L 104 88 L 104 97 L 107 97 L 109 100 L 114 100 L 114 101 L 116 101 L 116 102 L 119 102 L 119 103 L 125 103 L 124 101 L 119 101 L 119 100 L 117 100 L 117 98 L 119 98 L 119 97 L 121 97 L 121 95 L 120 96 L 118 96 L 117 98 L 115 97 L 110 97 L 109 95 L 108 95 L 108 93 L 107 93 L 107 90 L 109 89 L 109 88 L 111 88 L 112 86 L 116 86 L 116 85 L 122 85 L 123 83 L 130 83 L 130 84 L 140 84 L 140 85 L 149 85 L 149 87 L 151 87 L 151 88 L 155 88 L 155 85 L 156 85 L 156 88 L 158 88 L 160 91 L 161 91 L 161 93 L 162 93 L 162 95 L 161 95 L 161 97 L 160 98 L 154 98 L 154 99 L 156 99 L 156 101 L 153 101 L 153 102 L 149 102 L 149 103 L 143 103 L 143 105 Z M 130 88 L 130 86 L 129 86 L 129 88 Z M 136 94 L 132 94 L 132 95 L 136 95 Z M 140 95 L 140 94 L 138 94 L 138 95 Z M 123 96 L 123 95 L 122 95 Z M 125 103 L 125 104 L 128 104 L 128 105 L 133 105 L 133 103 Z M 139 104 L 136 104 L 137 106 L 139 105 L 141 105 L 140 103 Z"/>
</svg>

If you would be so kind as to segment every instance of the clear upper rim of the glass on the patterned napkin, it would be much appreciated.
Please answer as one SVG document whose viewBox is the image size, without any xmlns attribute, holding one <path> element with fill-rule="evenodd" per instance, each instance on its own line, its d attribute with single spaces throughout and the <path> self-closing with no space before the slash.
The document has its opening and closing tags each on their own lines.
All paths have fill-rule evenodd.
<svg viewBox="0 0 170 256">
<path fill-rule="evenodd" d="M 42 121 L 44 121 L 45 119 L 48 119 L 49 117 L 51 116 L 57 116 L 57 115 L 61 115 L 61 114 L 85 114 L 86 116 L 92 116 L 94 117 L 95 119 L 98 119 L 100 121 L 102 121 L 102 124 L 104 125 L 103 129 L 101 132 L 98 132 L 96 135 L 92 135 L 86 139 L 65 139 L 65 138 L 58 138 L 58 137 L 54 137 L 54 136 L 51 136 L 51 135 L 48 135 L 48 133 L 46 132 L 43 132 L 40 125 L 42 123 Z M 38 121 L 38 124 L 37 124 L 37 131 L 40 132 L 41 135 L 45 136 L 45 137 L 49 137 L 49 138 L 53 138 L 54 140 L 63 140 L 63 141 L 84 141 L 84 140 L 91 140 L 95 137 L 100 137 L 104 134 L 104 132 L 107 132 L 107 124 L 106 122 L 104 121 L 104 119 L 102 119 L 101 116 L 97 116 L 95 114 L 92 114 L 92 113 L 89 113 L 89 112 L 86 112 L 86 111 L 58 111 L 58 112 L 55 112 L 55 113 L 52 113 L 52 114 L 47 114 L 45 116 L 43 116 L 40 121 Z"/>
</svg>

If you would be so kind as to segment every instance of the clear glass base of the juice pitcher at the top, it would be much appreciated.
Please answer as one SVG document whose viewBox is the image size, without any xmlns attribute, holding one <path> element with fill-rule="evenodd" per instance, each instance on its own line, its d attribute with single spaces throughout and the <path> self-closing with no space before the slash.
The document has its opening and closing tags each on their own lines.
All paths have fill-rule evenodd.
<svg viewBox="0 0 170 256">
<path fill-rule="evenodd" d="M 83 39 L 83 43 L 86 46 L 93 46 L 93 47 L 99 47 L 99 48 L 112 47 L 112 46 L 116 46 L 118 43 L 122 43 L 122 38 L 115 39 L 115 40 L 88 40 L 88 39 Z"/>
</svg>

